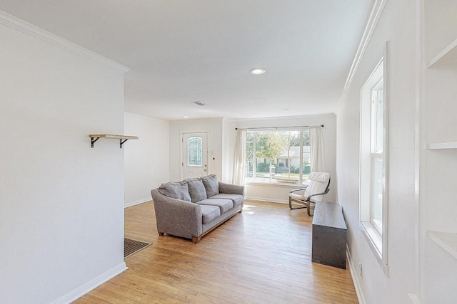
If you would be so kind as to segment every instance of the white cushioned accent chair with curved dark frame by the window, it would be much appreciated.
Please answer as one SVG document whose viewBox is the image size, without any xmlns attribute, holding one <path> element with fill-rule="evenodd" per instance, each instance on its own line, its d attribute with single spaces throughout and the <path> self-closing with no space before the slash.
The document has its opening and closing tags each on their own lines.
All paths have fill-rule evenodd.
<svg viewBox="0 0 457 304">
<path fill-rule="evenodd" d="M 316 205 L 316 201 L 322 201 L 323 196 L 330 189 L 330 173 L 328 172 L 311 172 L 308 177 L 307 185 L 303 188 L 293 189 L 288 194 L 288 206 L 290 209 L 308 209 L 308 216 L 311 214 L 311 206 Z M 311 198 L 313 201 L 311 201 Z M 292 203 L 301 204 L 301 207 L 292 207 Z M 312 205 L 311 205 L 312 204 Z M 313 208 L 314 209 L 314 208 Z"/>
</svg>

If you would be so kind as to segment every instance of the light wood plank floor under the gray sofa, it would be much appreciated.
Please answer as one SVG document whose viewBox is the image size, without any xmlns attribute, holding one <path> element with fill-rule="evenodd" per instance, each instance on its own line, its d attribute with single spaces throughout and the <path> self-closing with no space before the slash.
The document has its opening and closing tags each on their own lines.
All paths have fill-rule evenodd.
<svg viewBox="0 0 457 304">
<path fill-rule="evenodd" d="M 153 245 L 74 303 L 358 303 L 348 269 L 311 263 L 306 209 L 245 201 L 198 244 L 159 236 L 152 201 L 125 221 L 126 237 Z"/>
</svg>

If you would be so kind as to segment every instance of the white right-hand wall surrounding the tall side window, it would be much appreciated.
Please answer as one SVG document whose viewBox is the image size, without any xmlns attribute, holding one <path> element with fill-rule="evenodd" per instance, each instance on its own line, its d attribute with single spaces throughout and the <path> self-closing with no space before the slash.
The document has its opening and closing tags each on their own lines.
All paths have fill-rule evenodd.
<svg viewBox="0 0 457 304">
<path fill-rule="evenodd" d="M 366 303 L 412 303 L 418 295 L 418 196 L 416 190 L 416 90 L 418 1 L 388 1 L 338 109 L 338 203 L 348 225 L 354 281 Z M 390 43 L 388 139 L 388 275 L 383 273 L 358 222 L 360 90 Z M 436 302 L 438 303 L 438 302 Z"/>
</svg>

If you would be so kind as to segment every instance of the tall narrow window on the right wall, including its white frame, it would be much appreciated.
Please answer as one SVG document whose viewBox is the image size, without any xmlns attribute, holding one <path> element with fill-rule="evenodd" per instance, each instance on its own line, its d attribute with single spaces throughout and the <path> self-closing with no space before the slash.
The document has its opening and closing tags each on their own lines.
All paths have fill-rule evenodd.
<svg viewBox="0 0 457 304">
<path fill-rule="evenodd" d="M 383 60 L 361 89 L 360 222 L 387 272 L 387 100 Z"/>
</svg>

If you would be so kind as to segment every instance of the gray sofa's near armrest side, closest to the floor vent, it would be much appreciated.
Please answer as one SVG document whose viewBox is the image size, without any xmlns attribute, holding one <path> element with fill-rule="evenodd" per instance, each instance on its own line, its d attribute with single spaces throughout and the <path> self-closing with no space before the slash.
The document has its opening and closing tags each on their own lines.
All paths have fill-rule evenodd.
<svg viewBox="0 0 457 304">
<path fill-rule="evenodd" d="M 201 206 L 190 201 L 181 201 L 165 196 L 159 189 L 151 190 L 156 211 L 159 234 L 172 234 L 191 239 L 203 232 Z"/>
</svg>

